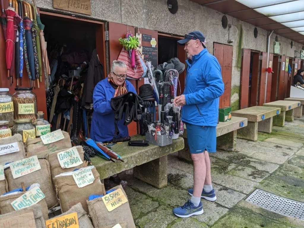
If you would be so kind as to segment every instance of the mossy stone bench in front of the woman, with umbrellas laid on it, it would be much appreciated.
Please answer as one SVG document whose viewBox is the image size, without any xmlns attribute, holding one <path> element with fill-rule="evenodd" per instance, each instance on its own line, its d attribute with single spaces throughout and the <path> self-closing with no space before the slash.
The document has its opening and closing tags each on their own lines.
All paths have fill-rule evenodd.
<svg viewBox="0 0 304 228">
<path fill-rule="evenodd" d="M 146 140 L 146 136 L 135 135 L 131 140 Z M 105 179 L 122 171 L 133 169 L 133 176 L 156 188 L 167 186 L 167 155 L 184 148 L 184 139 L 172 140 L 172 144 L 159 147 L 149 144 L 148 147 L 128 146 L 128 142 L 115 144 L 111 150 L 119 154 L 124 162 L 106 161 L 98 157 L 91 158 L 92 164 L 100 175 L 100 179 Z"/>
</svg>

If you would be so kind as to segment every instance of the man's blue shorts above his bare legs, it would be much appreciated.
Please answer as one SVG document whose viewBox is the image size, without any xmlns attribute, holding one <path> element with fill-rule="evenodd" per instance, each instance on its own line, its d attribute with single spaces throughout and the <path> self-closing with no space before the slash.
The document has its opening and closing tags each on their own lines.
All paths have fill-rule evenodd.
<svg viewBox="0 0 304 228">
<path fill-rule="evenodd" d="M 187 140 L 191 154 L 216 152 L 216 127 L 197 126 L 186 123 Z"/>
</svg>

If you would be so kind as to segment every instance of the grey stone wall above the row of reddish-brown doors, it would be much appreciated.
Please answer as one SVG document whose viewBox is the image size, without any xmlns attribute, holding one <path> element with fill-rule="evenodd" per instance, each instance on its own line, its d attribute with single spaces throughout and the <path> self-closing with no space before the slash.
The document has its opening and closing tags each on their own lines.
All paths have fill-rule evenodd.
<svg viewBox="0 0 304 228">
<path fill-rule="evenodd" d="M 181 36 L 189 31 L 200 30 L 206 36 L 210 53 L 213 53 L 213 42 L 228 44 L 228 28 L 223 29 L 221 22 L 223 14 L 189 0 L 178 0 L 178 12 L 174 15 L 168 11 L 167 0 L 91 0 L 92 16 L 54 9 L 52 0 L 36 0 L 36 4 L 46 11 L 118 22 Z M 232 26 L 230 39 L 233 41 L 230 44 L 233 45 L 231 104 L 237 108 L 242 48 L 266 51 L 268 32 L 257 28 L 258 36 L 254 38 L 253 25 L 231 16 L 227 18 Z M 271 36 L 271 52 L 275 36 Z M 300 51 L 302 47 L 301 44 L 294 42 L 291 48 L 291 40 L 282 36 L 278 36 L 278 41 L 281 42 L 281 54 L 289 57 L 294 57 L 295 50 Z"/>
</svg>

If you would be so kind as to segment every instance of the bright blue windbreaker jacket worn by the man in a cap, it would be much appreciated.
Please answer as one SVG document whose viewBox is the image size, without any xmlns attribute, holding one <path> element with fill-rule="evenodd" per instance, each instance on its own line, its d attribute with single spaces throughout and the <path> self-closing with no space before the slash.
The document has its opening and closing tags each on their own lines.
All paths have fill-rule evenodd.
<svg viewBox="0 0 304 228">
<path fill-rule="evenodd" d="M 219 97 L 224 92 L 221 66 L 205 48 L 188 64 L 181 119 L 198 126 L 217 126 Z"/>
</svg>

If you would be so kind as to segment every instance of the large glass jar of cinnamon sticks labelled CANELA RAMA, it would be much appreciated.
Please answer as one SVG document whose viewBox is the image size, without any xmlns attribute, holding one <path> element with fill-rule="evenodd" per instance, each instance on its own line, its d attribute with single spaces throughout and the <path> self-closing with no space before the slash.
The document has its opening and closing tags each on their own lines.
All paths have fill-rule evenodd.
<svg viewBox="0 0 304 228">
<path fill-rule="evenodd" d="M 37 97 L 32 92 L 33 88 L 15 88 L 13 94 L 15 119 L 36 120 Z"/>
</svg>

